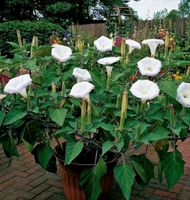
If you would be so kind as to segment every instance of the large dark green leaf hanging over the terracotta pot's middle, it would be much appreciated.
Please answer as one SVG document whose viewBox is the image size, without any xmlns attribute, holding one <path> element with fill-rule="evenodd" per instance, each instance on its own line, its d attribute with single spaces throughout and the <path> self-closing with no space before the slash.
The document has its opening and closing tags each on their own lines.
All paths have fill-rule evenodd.
<svg viewBox="0 0 190 200">
<path fill-rule="evenodd" d="M 80 175 L 80 185 L 85 188 L 88 200 L 97 200 L 101 193 L 100 180 L 107 172 L 107 166 L 103 159 L 100 159 L 92 169 L 84 170 Z"/>
</svg>

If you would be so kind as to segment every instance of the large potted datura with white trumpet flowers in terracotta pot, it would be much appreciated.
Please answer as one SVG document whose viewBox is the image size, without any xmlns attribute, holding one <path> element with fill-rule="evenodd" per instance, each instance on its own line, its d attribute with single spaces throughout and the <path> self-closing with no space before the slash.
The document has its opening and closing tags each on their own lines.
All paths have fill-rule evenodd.
<svg viewBox="0 0 190 200">
<path fill-rule="evenodd" d="M 106 199 L 113 178 L 125 199 L 134 181 L 165 175 L 173 188 L 184 169 L 177 141 L 188 136 L 189 76 L 173 80 L 174 61 L 162 52 L 162 61 L 154 58 L 162 40 L 143 43 L 152 57 L 140 50 L 136 56 L 136 41 L 123 39 L 120 50 L 104 36 L 88 48 L 78 37 L 72 50 L 54 44 L 42 56 L 33 44 L 32 56 L 23 45 L 13 59 L 1 57 L 8 80 L 1 85 L 0 142 L 7 157 L 18 156 L 16 136 L 44 169 L 56 172 L 58 159 L 68 200 Z M 142 146 L 146 151 L 136 154 Z M 147 157 L 150 146 L 157 163 Z"/>
</svg>

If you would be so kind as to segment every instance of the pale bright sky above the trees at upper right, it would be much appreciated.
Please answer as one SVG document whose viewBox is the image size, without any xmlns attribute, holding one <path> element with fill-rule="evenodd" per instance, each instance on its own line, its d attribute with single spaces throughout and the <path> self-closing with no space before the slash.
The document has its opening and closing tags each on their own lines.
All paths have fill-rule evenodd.
<svg viewBox="0 0 190 200">
<path fill-rule="evenodd" d="M 168 11 L 177 9 L 180 0 L 140 0 L 138 2 L 131 0 L 129 6 L 137 11 L 141 19 L 151 19 L 155 12 L 165 8 Z"/>
</svg>

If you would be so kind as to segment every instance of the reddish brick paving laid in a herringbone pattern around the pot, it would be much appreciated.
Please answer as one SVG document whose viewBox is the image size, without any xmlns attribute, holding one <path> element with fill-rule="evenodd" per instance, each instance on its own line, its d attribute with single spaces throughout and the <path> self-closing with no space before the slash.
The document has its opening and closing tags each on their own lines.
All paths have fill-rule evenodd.
<svg viewBox="0 0 190 200">
<path fill-rule="evenodd" d="M 153 179 L 144 188 L 135 185 L 131 200 L 190 200 L 189 147 L 190 139 L 180 144 L 180 151 L 186 161 L 185 173 L 172 191 L 167 190 L 165 182 L 160 184 Z M 0 200 L 65 200 L 59 173 L 57 175 L 43 170 L 22 144 L 18 150 L 20 157 L 10 163 L 0 147 Z M 150 156 L 154 156 L 151 151 Z M 117 186 L 114 186 L 110 196 L 110 200 L 123 200 Z"/>
</svg>

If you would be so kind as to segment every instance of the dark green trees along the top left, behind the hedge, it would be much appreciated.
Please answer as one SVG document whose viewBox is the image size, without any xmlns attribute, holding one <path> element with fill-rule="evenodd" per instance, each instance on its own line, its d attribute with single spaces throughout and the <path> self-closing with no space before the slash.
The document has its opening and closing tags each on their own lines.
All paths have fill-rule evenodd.
<svg viewBox="0 0 190 200">
<path fill-rule="evenodd" d="M 106 11 L 113 5 L 125 5 L 130 0 L 1 0 L 0 21 L 33 20 L 45 18 L 52 22 L 86 23 L 94 20 L 92 9 L 97 15 L 106 16 Z M 138 1 L 138 0 L 135 0 Z M 99 12 L 100 11 L 100 12 Z"/>
</svg>

